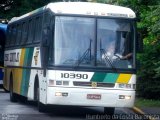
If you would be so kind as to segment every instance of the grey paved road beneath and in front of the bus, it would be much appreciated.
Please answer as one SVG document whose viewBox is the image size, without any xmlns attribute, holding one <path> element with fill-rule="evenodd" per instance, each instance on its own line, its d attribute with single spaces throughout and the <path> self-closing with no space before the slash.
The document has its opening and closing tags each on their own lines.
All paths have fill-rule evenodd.
<svg viewBox="0 0 160 120">
<path fill-rule="evenodd" d="M 130 109 L 116 108 L 113 120 L 131 120 L 136 117 Z M 119 117 L 117 119 L 117 117 Z M 0 89 L 0 120 L 108 120 L 101 107 L 49 107 L 46 113 L 39 113 L 34 102 L 12 103 L 9 93 Z M 137 118 L 138 120 L 138 118 Z"/>
</svg>

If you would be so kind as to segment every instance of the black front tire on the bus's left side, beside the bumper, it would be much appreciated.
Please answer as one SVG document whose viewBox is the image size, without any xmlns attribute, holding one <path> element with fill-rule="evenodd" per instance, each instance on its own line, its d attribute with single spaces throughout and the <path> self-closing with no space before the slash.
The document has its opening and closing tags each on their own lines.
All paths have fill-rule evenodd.
<svg viewBox="0 0 160 120">
<path fill-rule="evenodd" d="M 36 81 L 35 82 L 35 88 L 34 88 L 34 99 L 35 101 L 37 101 L 37 105 L 38 105 L 38 111 L 39 112 L 45 112 L 46 111 L 46 105 L 44 105 L 43 103 L 40 102 L 40 88 L 39 88 L 39 83 Z"/>
</svg>

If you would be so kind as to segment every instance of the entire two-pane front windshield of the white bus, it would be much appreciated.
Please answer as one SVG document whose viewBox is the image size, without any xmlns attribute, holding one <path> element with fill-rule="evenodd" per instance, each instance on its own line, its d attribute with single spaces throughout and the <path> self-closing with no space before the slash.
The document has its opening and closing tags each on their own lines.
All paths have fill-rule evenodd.
<svg viewBox="0 0 160 120">
<path fill-rule="evenodd" d="M 54 65 L 134 68 L 129 20 L 56 16 L 54 33 Z"/>
</svg>

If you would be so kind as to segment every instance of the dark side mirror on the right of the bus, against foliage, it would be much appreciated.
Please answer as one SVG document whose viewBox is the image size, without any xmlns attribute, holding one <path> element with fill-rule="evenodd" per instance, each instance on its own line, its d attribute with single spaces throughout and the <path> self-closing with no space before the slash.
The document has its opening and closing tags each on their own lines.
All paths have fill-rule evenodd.
<svg viewBox="0 0 160 120">
<path fill-rule="evenodd" d="M 143 39 L 142 39 L 142 35 L 140 33 L 137 34 L 136 50 L 138 53 L 143 52 Z"/>
</svg>

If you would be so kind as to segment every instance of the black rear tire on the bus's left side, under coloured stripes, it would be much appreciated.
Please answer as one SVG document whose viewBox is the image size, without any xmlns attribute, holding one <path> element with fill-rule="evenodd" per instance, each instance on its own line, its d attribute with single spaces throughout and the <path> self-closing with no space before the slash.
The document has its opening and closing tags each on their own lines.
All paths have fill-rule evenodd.
<svg viewBox="0 0 160 120">
<path fill-rule="evenodd" d="M 10 77 L 9 90 L 10 90 L 10 101 L 17 102 L 17 95 L 13 92 L 13 77 L 12 77 L 12 75 Z"/>
</svg>

